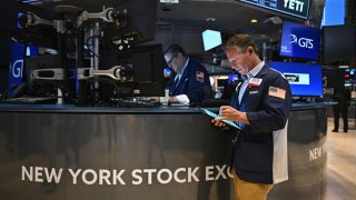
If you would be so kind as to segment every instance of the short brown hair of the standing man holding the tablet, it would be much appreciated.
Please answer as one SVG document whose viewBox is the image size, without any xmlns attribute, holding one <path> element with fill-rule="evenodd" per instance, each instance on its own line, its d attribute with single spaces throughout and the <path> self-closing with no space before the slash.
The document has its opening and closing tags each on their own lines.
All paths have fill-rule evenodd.
<svg viewBox="0 0 356 200">
<path fill-rule="evenodd" d="M 246 52 L 248 47 L 251 47 L 257 53 L 257 47 L 250 36 L 235 34 L 225 43 L 224 50 L 226 51 L 233 48 L 237 48 L 241 52 Z"/>
</svg>

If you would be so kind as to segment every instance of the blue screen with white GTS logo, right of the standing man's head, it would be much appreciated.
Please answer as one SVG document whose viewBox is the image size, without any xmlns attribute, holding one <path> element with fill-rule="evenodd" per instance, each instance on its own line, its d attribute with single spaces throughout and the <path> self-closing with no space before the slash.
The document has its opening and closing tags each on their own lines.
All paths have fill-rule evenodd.
<svg viewBox="0 0 356 200">
<path fill-rule="evenodd" d="M 279 54 L 317 60 L 319 43 L 319 29 L 298 23 L 284 22 Z"/>
</svg>

